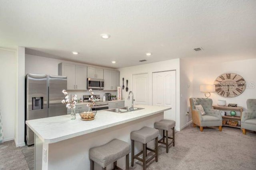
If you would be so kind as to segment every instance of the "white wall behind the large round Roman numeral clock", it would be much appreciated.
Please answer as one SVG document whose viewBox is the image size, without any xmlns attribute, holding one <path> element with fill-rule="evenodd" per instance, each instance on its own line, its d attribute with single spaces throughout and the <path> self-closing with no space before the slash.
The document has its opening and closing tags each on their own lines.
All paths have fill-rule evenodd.
<svg viewBox="0 0 256 170">
<path fill-rule="evenodd" d="M 217 104 L 218 100 L 226 100 L 227 104 L 235 103 L 246 110 L 246 100 L 256 98 L 256 59 L 218 64 L 206 63 L 194 66 L 193 70 L 193 97 L 205 97 L 204 93 L 199 90 L 200 84 L 213 84 L 220 74 L 232 72 L 242 76 L 246 83 L 254 83 L 254 88 L 246 88 L 242 94 L 234 98 L 224 98 L 216 92 L 212 92 L 210 98 L 213 100 L 213 104 Z"/>
</svg>

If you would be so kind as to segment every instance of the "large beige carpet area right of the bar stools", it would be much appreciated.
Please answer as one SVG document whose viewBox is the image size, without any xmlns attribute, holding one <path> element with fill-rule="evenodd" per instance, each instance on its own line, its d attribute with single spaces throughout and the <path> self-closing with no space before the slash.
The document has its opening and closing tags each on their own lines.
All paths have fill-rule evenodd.
<svg viewBox="0 0 256 170">
<path fill-rule="evenodd" d="M 200 132 L 191 124 L 175 135 L 175 147 L 168 154 L 159 147 L 158 162 L 150 161 L 147 170 L 256 170 L 256 133 L 242 135 L 232 127 Z M 130 168 L 140 170 L 142 164 Z"/>
</svg>

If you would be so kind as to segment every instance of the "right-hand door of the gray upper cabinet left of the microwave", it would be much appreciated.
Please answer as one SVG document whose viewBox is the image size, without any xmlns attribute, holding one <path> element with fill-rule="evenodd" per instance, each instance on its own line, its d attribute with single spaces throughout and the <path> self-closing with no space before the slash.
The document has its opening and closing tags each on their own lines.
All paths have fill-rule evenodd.
<svg viewBox="0 0 256 170">
<path fill-rule="evenodd" d="M 87 67 L 76 65 L 76 90 L 87 89 Z"/>
</svg>

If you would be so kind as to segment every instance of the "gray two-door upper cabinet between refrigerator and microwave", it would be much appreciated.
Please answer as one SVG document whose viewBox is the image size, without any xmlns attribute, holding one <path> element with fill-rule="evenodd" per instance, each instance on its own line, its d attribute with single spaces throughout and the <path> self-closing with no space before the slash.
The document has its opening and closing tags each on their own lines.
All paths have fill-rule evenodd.
<svg viewBox="0 0 256 170">
<path fill-rule="evenodd" d="M 67 76 L 67 90 L 87 89 L 86 66 L 69 63 L 60 63 L 59 76 Z"/>
</svg>

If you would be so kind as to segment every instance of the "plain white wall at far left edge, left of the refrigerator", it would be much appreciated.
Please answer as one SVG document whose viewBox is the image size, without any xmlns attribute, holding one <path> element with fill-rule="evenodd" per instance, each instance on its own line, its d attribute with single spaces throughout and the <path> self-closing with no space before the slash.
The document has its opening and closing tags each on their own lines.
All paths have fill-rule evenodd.
<svg viewBox="0 0 256 170">
<path fill-rule="evenodd" d="M 4 140 L 14 139 L 16 111 L 16 52 L 0 49 L 0 109 L 2 115 Z"/>
</svg>

